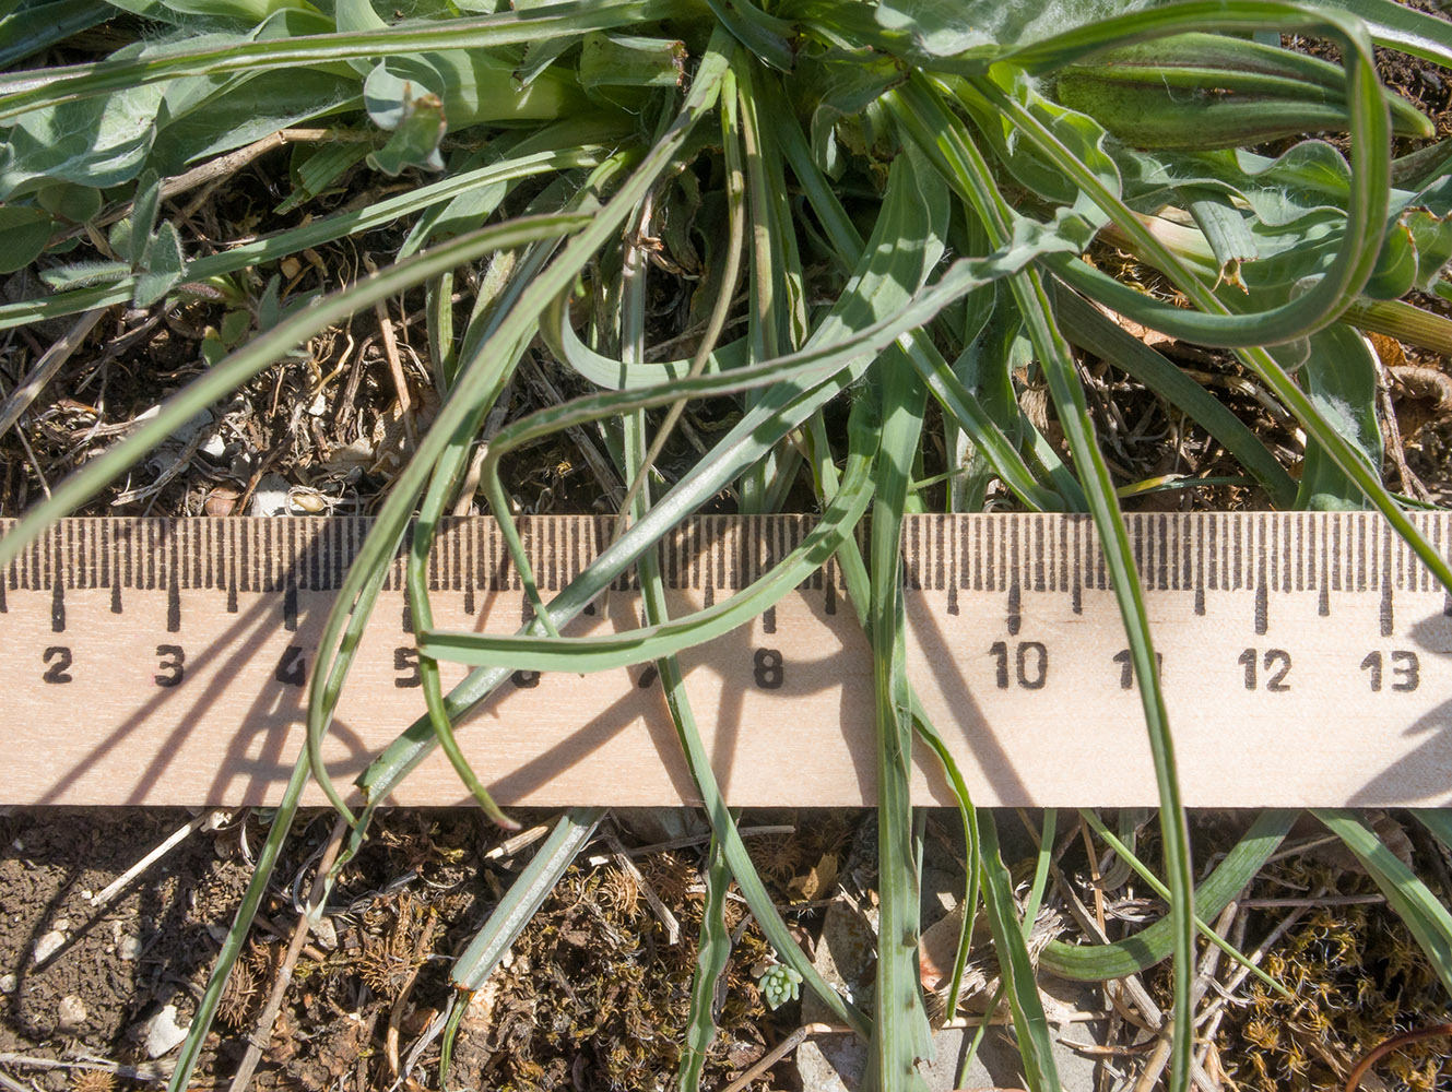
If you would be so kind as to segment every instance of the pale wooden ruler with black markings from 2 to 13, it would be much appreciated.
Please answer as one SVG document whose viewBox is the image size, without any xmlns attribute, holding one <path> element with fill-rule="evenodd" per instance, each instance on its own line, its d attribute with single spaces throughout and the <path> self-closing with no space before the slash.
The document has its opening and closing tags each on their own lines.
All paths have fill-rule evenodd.
<svg viewBox="0 0 1452 1092">
<path fill-rule="evenodd" d="M 1452 516 L 1417 516 L 1442 552 Z M 0 530 L 9 524 L 0 524 Z M 672 614 L 767 571 L 810 517 L 698 517 L 662 547 Z M 1186 803 L 1452 800 L 1452 607 L 1376 516 L 1128 517 Z M 263 803 L 301 746 L 306 672 L 366 520 L 67 520 L 0 572 L 4 803 Z M 521 521 L 546 597 L 607 520 Z M 922 516 L 905 529 L 910 677 L 979 804 L 1156 802 L 1093 526 Z M 569 633 L 640 624 L 630 576 Z M 449 523 L 440 627 L 514 632 L 518 572 L 488 520 Z M 344 784 L 424 709 L 396 562 L 328 761 Z M 682 653 L 735 804 L 874 797 L 867 643 L 835 563 L 749 626 Z M 446 682 L 463 669 L 446 665 Z M 460 741 L 507 804 L 678 804 L 694 790 L 655 669 L 515 675 Z M 919 755 L 915 799 L 948 803 Z M 399 803 L 465 799 L 436 754 Z M 312 800 L 321 800 L 318 794 Z"/>
</svg>

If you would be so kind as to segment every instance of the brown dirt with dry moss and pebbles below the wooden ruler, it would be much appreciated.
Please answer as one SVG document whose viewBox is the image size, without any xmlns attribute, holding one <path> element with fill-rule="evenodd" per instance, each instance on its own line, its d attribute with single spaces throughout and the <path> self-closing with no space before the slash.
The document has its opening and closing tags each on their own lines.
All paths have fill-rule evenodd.
<svg viewBox="0 0 1452 1092">
<path fill-rule="evenodd" d="M 248 857 L 266 835 L 266 813 L 216 815 L 215 829 L 208 829 L 208 818 L 168 809 L 12 810 L 0 818 L 6 1088 L 96 1092 L 164 1080 L 245 887 Z M 530 828 L 552 816 L 518 818 Z M 961 849 L 945 836 L 954 822 L 947 812 L 929 822 L 935 844 L 929 873 L 948 889 L 961 883 Z M 1015 876 L 1029 873 L 1032 839 L 1015 816 L 999 813 L 998 822 Z M 1247 822 L 1236 813 L 1199 815 L 1201 860 L 1212 861 Z M 96 905 L 150 847 L 187 823 L 199 829 L 113 900 Z M 298 823 L 195 1088 L 227 1086 L 235 1072 L 296 925 L 293 899 L 306 892 L 331 825 L 324 813 Z M 742 828 L 809 951 L 820 940 L 826 908 L 858 913 L 873 902 L 870 813 L 749 813 Z M 582 854 L 510 958 L 475 995 L 460 1025 L 449 1088 L 671 1085 L 696 960 L 704 831 L 684 812 L 623 812 L 603 829 L 610 838 Z M 1416 823 L 1381 816 L 1378 829 L 1442 897 L 1452 899 L 1446 855 L 1417 835 Z M 1141 849 L 1153 857 L 1153 823 L 1141 835 Z M 1227 1086 L 1339 1086 L 1390 1030 L 1446 1019 L 1442 987 L 1406 928 L 1355 861 L 1324 841 L 1313 822 L 1294 831 L 1282 861 L 1221 922 L 1294 993 L 1279 999 L 1240 976 L 1227 993 L 1230 1003 L 1215 993 L 1205 998 L 1205 1014 L 1214 1016 L 1207 1040 L 1214 1066 L 1237 1082 Z M 341 874 L 325 928 L 302 950 L 270 1035 L 260 1040 L 256 1088 L 439 1088 L 437 1041 L 420 1051 L 412 1067 L 411 1047 L 449 1002 L 452 957 L 529 858 L 529 848 L 501 854 L 504 844 L 504 835 L 473 810 L 386 813 Z M 1133 922 L 1157 913 L 1133 883 L 1101 876 L 1072 831 L 1059 847 L 1056 861 L 1066 883 L 1101 918 Z M 678 922 L 674 942 L 646 889 Z M 755 979 L 770 950 L 743 919 L 743 908 L 730 903 L 727 924 L 739 935 L 719 999 L 722 1034 L 706 1086 L 802 1088 L 790 1053 L 733 1083 L 803 1021 L 797 1002 L 775 1012 L 765 1006 Z M 1069 938 L 1073 926 L 1056 922 L 1053 932 Z M 974 958 L 992 969 L 986 945 Z M 841 970 L 870 977 L 871 967 L 862 961 Z M 1231 983 L 1233 974 L 1221 979 Z M 1163 996 L 1159 973 L 1146 983 Z M 1121 1021 L 1115 1034 L 1108 1027 L 1112 1019 L 1106 998 L 1092 1021 L 1096 1038 L 1108 1030 L 1109 1040 L 1122 1041 L 1121 1054 L 1133 1056 L 1128 1043 L 1138 1028 Z M 1005 1035 L 1003 1028 L 992 1031 L 1000 1041 Z M 1085 1041 L 1083 1027 L 1074 1040 Z M 1114 1054 L 1112 1047 L 1105 1050 Z M 1439 1043 L 1420 1044 L 1388 1063 L 1382 1088 L 1446 1088 L 1443 1064 Z"/>
</svg>

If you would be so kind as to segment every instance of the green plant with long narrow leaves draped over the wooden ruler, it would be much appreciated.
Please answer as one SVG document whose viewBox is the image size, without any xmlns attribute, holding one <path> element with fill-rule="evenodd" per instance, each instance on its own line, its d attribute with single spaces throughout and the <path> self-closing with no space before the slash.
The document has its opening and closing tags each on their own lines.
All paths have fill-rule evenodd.
<svg viewBox="0 0 1452 1092">
<path fill-rule="evenodd" d="M 454 722 L 515 668 L 595 671 L 643 659 L 659 667 L 716 835 L 682 1085 L 698 1079 L 710 1043 L 709 986 L 725 963 L 719 913 L 727 877 L 783 958 L 781 976 L 799 976 L 870 1040 L 878 1085 L 921 1085 L 916 1062 L 928 1051 L 928 1021 L 916 970 L 918 854 L 908 796 L 908 755 L 918 735 L 944 758 L 960 794 L 973 861 L 964 937 L 982 896 L 1025 1076 L 1035 1089 L 1057 1088 L 1024 922 L 993 823 L 974 813 L 905 667 L 899 530 L 903 514 L 923 504 L 913 484 L 922 478 L 929 420 L 941 420 L 944 450 L 963 452 L 947 468 L 954 475 L 950 508 L 982 507 L 998 481 L 1027 508 L 1092 513 L 1108 546 L 1154 755 L 1170 913 L 1141 944 L 1050 948 L 1045 961 L 1106 976 L 1173 954 L 1172 1072 L 1173 1086 L 1185 1088 L 1196 926 L 1189 839 L 1117 484 L 1072 346 L 1115 357 L 1195 420 L 1234 455 L 1269 504 L 1369 502 L 1452 588 L 1452 571 L 1381 481 L 1375 360 L 1356 333 L 1356 322 L 1369 327 L 1372 315 L 1375 328 L 1391 325 L 1408 338 L 1448 333 L 1435 315 L 1384 306 L 1414 290 L 1446 292 L 1452 182 L 1445 166 L 1452 152 L 1432 145 L 1392 160 L 1394 122 L 1403 134 L 1430 131 L 1381 87 L 1372 45 L 1452 62 L 1452 30 L 1390 0 L 780 0 L 770 10 L 743 0 L 568 0 L 491 7 L 417 0 L 389 22 L 366 0 L 337 0 L 331 9 L 308 0 L 129 0 L 125 9 L 147 20 L 144 39 L 97 62 L 0 80 L 0 123 L 10 126 L 0 160 L 7 261 L 19 267 L 46 253 L 65 256 L 65 264 L 51 264 L 61 290 L 0 305 L 0 327 L 128 301 L 160 305 L 308 247 L 408 224 L 395 264 L 276 325 L 261 324 L 245 344 L 218 354 L 155 418 L 25 514 L 0 540 L 0 561 L 93 497 L 177 423 L 309 337 L 399 292 L 424 292 L 443 396 L 328 620 L 309 696 L 309 754 L 289 783 L 173 1088 L 186 1085 L 196 1063 L 309 775 L 348 815 L 350 852 L 378 802 L 436 746 L 481 806 L 508 823 L 459 749 Z M 0 22 L 0 46 L 19 55 L 16 42 L 38 48 L 55 41 L 36 29 L 38 9 L 12 6 Z M 110 10 L 94 0 L 80 4 L 76 17 L 100 20 Z M 1331 68 L 1244 41 L 1266 32 L 1324 36 L 1339 46 L 1342 64 Z M 1186 64 L 1186 52 L 1212 64 Z M 289 78 L 260 78 L 280 68 Z M 1125 68 L 1138 83 L 1108 89 L 1109 74 Z M 1160 94 L 1165 86 L 1214 102 L 1217 116 L 1225 107 L 1225 121 L 1189 147 L 1167 138 L 1182 115 L 1173 94 Z M 1147 96 L 1157 96 L 1153 109 L 1167 128 L 1146 131 L 1137 147 L 1125 112 L 1149 109 Z M 1247 147 L 1300 132 L 1288 116 L 1347 132 L 1350 158 L 1318 139 L 1276 157 Z M 363 160 L 389 174 L 417 171 L 423 184 L 190 258 L 177 228 L 157 225 L 161 179 L 303 122 L 331 128 L 296 145 L 289 206 Z M 87 238 L 100 251 L 94 260 L 80 256 L 77 221 L 91 228 Z M 106 222 L 115 225 L 109 237 L 100 232 Z M 1156 267 L 1188 306 L 1086 263 L 1096 241 Z M 649 272 L 648 247 L 661 264 L 700 270 L 694 315 L 704 333 L 688 359 L 649 360 L 646 280 L 658 274 Z M 498 269 L 508 276 L 485 277 L 459 325 L 450 305 L 459 270 L 486 254 L 501 256 Z M 742 282 L 745 334 L 726 341 Z M 597 317 L 590 344 L 575 328 L 576 296 Z M 1300 482 L 1250 428 L 1092 303 L 1176 338 L 1233 350 L 1304 430 Z M 270 306 L 280 314 L 276 299 Z M 219 331 L 216 347 L 232 349 L 242 319 L 224 319 Z M 482 460 L 482 491 L 524 574 L 534 622 L 511 637 L 439 632 L 425 579 L 433 531 L 466 479 L 482 421 L 536 334 L 597 392 L 508 424 Z M 1047 385 L 1063 449 L 1021 405 L 1022 367 Z M 658 489 L 652 465 L 681 407 L 722 396 L 738 399 L 736 423 L 696 466 Z M 844 404 L 845 436 L 828 425 L 828 414 Z M 666 411 L 653 431 L 649 410 Z M 544 603 L 514 534 L 501 459 L 563 428 L 600 423 L 632 482 L 621 533 Z M 780 508 L 803 479 L 822 510 L 807 540 L 733 598 L 669 619 L 653 555 L 659 537 L 725 488 L 735 489 L 742 511 L 761 513 Z M 854 530 L 868 511 L 864 555 Z M 351 815 L 321 765 L 318 743 L 385 565 L 401 546 L 428 714 L 363 775 L 367 803 Z M 871 1015 L 817 976 L 772 906 L 714 783 L 675 662 L 681 649 L 765 610 L 832 555 L 870 636 L 877 681 L 881 941 Z M 630 565 L 639 566 L 650 629 L 588 642 L 560 637 L 559 627 Z M 449 694 L 440 659 L 473 665 Z M 558 845 L 552 841 L 531 874 L 534 886 L 511 893 L 478 951 L 460 960 L 459 986 L 478 985 L 499 944 L 517 932 L 520 915 L 539 905 L 539 884 L 563 870 L 568 847 L 595 819 L 582 812 L 562 820 Z M 1378 867 L 1378 877 L 1392 877 L 1392 886 L 1404 880 L 1352 819 L 1326 819 Z M 1262 816 L 1231 854 L 1234 867 L 1227 860 L 1205 887 L 1218 880 L 1217 897 L 1231 897 L 1288 828 L 1284 815 Z M 1433 913 L 1420 893 L 1406 900 L 1406 912 L 1446 977 L 1452 938 L 1445 913 Z M 964 957 L 960 945 L 953 998 Z M 954 1005 L 950 999 L 950 1011 Z"/>
</svg>

